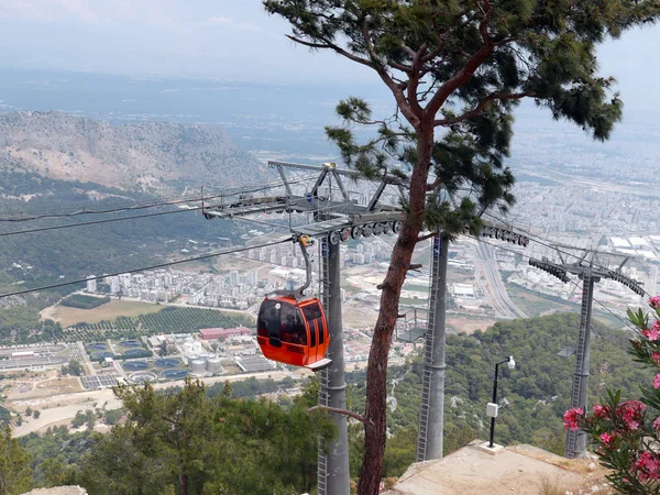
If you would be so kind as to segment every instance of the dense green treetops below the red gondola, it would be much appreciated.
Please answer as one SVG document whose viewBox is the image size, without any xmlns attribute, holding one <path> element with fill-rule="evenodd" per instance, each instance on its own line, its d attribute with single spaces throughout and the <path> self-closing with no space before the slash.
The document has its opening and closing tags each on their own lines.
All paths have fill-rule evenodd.
<svg viewBox="0 0 660 495">
<path fill-rule="evenodd" d="M 334 433 L 324 414 L 308 413 L 309 395 L 285 408 L 209 397 L 193 381 L 165 394 L 150 385 L 116 393 L 128 421 L 97 437 L 79 474 L 80 484 L 99 495 L 310 491 L 318 438 Z"/>
</svg>

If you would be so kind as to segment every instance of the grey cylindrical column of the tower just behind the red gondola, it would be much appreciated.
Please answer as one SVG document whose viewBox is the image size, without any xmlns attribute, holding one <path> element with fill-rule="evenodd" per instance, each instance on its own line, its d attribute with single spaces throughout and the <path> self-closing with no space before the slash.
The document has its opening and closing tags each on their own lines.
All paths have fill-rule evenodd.
<svg viewBox="0 0 660 495">
<path fill-rule="evenodd" d="M 340 244 L 331 245 L 321 240 L 321 302 L 328 317 L 332 364 L 319 372 L 319 405 L 337 409 L 346 408 L 346 383 L 344 381 L 343 331 L 341 317 Z M 350 493 L 349 432 L 346 417 L 333 414 L 332 421 L 338 436 L 328 446 L 328 453 L 319 444 L 318 493 L 340 495 Z"/>
</svg>

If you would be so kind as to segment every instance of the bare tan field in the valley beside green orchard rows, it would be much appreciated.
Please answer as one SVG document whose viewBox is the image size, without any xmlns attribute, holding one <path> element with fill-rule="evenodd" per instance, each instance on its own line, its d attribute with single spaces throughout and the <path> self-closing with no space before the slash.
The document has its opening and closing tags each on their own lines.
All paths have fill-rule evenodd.
<svg viewBox="0 0 660 495">
<path fill-rule="evenodd" d="M 79 309 L 69 306 L 53 306 L 42 311 L 42 319 L 52 319 L 58 321 L 62 327 L 86 321 L 87 323 L 98 323 L 101 320 L 114 320 L 118 317 L 135 317 L 148 312 L 157 312 L 163 306 L 152 305 L 150 302 L 138 302 L 131 300 L 111 300 L 98 308 Z"/>
</svg>

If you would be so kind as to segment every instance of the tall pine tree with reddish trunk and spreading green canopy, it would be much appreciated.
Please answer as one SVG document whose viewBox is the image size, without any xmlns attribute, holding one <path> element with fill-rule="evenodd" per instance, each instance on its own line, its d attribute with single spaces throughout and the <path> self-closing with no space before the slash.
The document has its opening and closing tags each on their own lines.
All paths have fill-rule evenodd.
<svg viewBox="0 0 660 495">
<path fill-rule="evenodd" d="M 597 74 L 596 47 L 654 22 L 657 0 L 264 0 L 292 25 L 295 43 L 366 67 L 392 92 L 395 112 L 372 117 L 348 98 L 345 125 L 327 128 L 343 161 L 367 177 L 409 180 L 406 218 L 382 285 L 367 369 L 365 449 L 359 494 L 378 493 L 386 440 L 387 354 L 415 245 L 506 208 L 514 177 L 505 167 L 513 111 L 524 99 L 606 140 L 622 118 L 614 79 Z M 354 125 L 373 127 L 359 143 Z M 451 197 L 459 188 L 473 194 Z"/>
</svg>

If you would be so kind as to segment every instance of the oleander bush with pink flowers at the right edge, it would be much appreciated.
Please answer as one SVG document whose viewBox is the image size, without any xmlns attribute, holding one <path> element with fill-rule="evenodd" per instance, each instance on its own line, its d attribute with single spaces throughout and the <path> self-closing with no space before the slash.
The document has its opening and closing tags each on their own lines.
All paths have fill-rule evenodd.
<svg viewBox="0 0 660 495">
<path fill-rule="evenodd" d="M 564 414 L 566 429 L 586 430 L 597 446 L 601 463 L 612 470 L 606 477 L 618 493 L 660 493 L 660 297 L 652 297 L 650 306 L 651 324 L 641 309 L 628 310 L 628 318 L 638 329 L 630 353 L 658 371 L 652 388 L 641 387 L 641 400 L 622 400 L 620 391 L 608 391 L 606 400 L 595 404 L 591 414 L 582 408 Z"/>
</svg>

